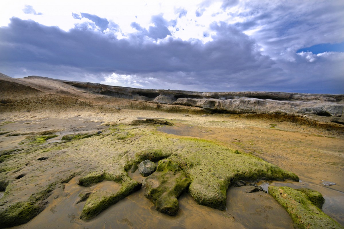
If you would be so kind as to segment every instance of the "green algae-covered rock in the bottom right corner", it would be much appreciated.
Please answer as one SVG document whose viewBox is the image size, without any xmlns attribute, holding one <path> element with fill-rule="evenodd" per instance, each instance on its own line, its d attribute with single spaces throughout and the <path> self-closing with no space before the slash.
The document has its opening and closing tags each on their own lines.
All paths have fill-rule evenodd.
<svg viewBox="0 0 344 229">
<path fill-rule="evenodd" d="M 319 192 L 276 186 L 269 186 L 268 190 L 299 228 L 343 228 L 315 205 L 322 198 Z"/>
</svg>

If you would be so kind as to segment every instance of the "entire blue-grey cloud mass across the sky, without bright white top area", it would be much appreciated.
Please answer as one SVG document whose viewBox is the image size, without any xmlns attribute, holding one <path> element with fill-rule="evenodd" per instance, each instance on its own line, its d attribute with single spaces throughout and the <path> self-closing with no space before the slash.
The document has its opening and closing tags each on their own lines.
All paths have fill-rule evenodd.
<svg viewBox="0 0 344 229">
<path fill-rule="evenodd" d="M 224 13 L 234 3 L 226 2 Z M 208 10 L 209 4 L 196 8 Z M 233 23 L 223 19 L 204 26 L 201 37 L 208 37 L 207 42 L 182 40 L 169 30 L 186 20 L 177 18 L 182 10 L 176 11 L 178 20 L 155 15 L 146 28 L 132 22 L 136 31 L 122 36 L 118 24 L 92 14 L 72 14 L 88 20 L 69 31 L 12 18 L 0 27 L 0 53 L 5 53 L 0 56 L 0 72 L 157 89 L 344 93 L 343 53 L 296 53 L 314 44 L 341 42 L 341 32 L 331 35 L 342 31 L 333 16 L 338 12 L 316 5 L 313 9 L 322 17 L 317 19 L 310 7 L 302 8 L 307 4 L 301 5 L 294 9 L 291 3 L 277 1 L 237 2 L 235 8 L 245 10 L 231 12 Z"/>
</svg>

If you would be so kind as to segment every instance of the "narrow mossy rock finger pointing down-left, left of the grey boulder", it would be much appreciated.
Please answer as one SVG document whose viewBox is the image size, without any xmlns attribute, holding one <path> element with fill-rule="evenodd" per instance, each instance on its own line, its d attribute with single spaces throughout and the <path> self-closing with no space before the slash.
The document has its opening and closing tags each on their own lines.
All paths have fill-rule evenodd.
<svg viewBox="0 0 344 229">
<path fill-rule="evenodd" d="M 97 216 L 111 205 L 117 203 L 119 200 L 129 196 L 131 193 L 139 190 L 141 183 L 133 181 L 129 177 L 124 177 L 121 182 L 121 188 L 117 192 L 110 192 L 105 190 L 97 190 L 90 193 L 87 198 L 85 206 L 81 212 L 80 218 L 87 221 Z"/>
</svg>

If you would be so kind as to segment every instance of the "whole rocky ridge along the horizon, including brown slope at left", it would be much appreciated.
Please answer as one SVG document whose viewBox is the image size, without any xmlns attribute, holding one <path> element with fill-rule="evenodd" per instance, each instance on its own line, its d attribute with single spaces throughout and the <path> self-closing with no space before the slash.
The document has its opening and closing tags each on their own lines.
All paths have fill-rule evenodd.
<svg viewBox="0 0 344 229">
<path fill-rule="evenodd" d="M 151 104 L 149 106 L 160 107 L 165 104 L 168 106 L 179 106 L 178 109 L 181 109 L 180 107 L 185 107 L 185 109 L 194 107 L 206 113 L 282 114 L 303 116 L 305 118 L 344 125 L 343 94 L 155 90 L 56 80 L 38 76 L 29 76 L 24 79 L 13 79 L 3 74 L 1 76 L 2 87 L 6 85 L 8 87 L 12 86 L 14 89 L 18 88 L 17 86 L 25 87 L 25 93 L 33 91 L 39 94 L 43 91 L 45 93 L 55 91 L 57 94 L 74 96 L 79 99 L 87 95 L 98 95 L 106 98 L 146 101 Z M 44 86 L 42 86 L 42 83 Z M 27 88 L 31 91 L 26 90 Z M 8 88 L 3 89 L 9 90 Z M 73 94 L 76 91 L 78 94 Z M 15 94 L 19 96 L 21 93 L 16 92 Z M 80 94 L 82 94 L 81 97 Z M 22 96 L 25 97 L 24 94 Z M 1 99 L 8 97 L 8 93 L 4 93 L 1 97 Z"/>
</svg>

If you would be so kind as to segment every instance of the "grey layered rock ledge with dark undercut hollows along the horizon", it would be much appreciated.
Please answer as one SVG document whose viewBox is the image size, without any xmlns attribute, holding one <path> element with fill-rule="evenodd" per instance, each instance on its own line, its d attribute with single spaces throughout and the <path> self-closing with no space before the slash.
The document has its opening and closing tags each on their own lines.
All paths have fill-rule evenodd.
<svg viewBox="0 0 344 229">
<path fill-rule="evenodd" d="M 331 117 L 330 121 L 344 124 L 343 94 L 194 92 L 126 88 L 74 81 L 63 82 L 92 93 L 104 94 L 116 98 L 199 107 L 210 113 L 309 114 Z"/>
</svg>

